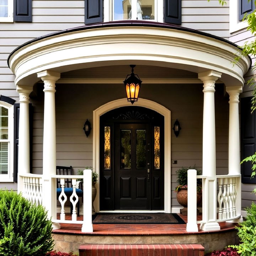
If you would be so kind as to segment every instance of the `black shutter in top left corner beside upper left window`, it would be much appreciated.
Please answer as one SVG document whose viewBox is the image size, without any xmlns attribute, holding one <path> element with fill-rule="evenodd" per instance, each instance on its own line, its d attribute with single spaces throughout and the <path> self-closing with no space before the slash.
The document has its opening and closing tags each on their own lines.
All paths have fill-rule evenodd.
<svg viewBox="0 0 256 256">
<path fill-rule="evenodd" d="M 32 0 L 14 0 L 14 21 L 32 21 Z"/>
</svg>

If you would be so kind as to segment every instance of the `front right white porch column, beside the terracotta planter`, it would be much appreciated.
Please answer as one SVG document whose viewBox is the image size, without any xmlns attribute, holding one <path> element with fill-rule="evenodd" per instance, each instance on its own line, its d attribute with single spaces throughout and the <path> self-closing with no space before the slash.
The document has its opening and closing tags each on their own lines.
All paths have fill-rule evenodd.
<svg viewBox="0 0 256 256">
<path fill-rule="evenodd" d="M 221 77 L 217 71 L 198 74 L 203 81 L 203 221 L 200 229 L 219 230 L 217 219 L 216 147 L 215 147 L 215 81 Z"/>
</svg>

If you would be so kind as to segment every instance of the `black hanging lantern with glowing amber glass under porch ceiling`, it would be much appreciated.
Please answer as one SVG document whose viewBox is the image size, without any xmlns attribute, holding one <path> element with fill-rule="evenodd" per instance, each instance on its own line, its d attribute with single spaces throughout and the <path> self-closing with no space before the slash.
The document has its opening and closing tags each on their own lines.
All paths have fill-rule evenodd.
<svg viewBox="0 0 256 256">
<path fill-rule="evenodd" d="M 133 68 L 135 66 L 136 65 L 130 65 L 132 73 L 127 75 L 126 80 L 123 81 L 126 89 L 127 101 L 130 101 L 132 104 L 135 101 L 138 101 L 139 90 L 142 83 L 139 76 L 133 73 Z"/>
</svg>

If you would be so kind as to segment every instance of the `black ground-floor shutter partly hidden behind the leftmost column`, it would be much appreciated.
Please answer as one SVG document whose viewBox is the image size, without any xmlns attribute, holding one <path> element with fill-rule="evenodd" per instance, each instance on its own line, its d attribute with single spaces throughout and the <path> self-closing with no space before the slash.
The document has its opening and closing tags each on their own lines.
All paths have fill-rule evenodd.
<svg viewBox="0 0 256 256">
<path fill-rule="evenodd" d="M 18 179 L 18 133 L 20 120 L 20 103 L 14 104 L 14 182 Z M 29 104 L 30 122 L 30 172 L 32 172 L 32 132 L 33 132 L 33 107 Z"/>
</svg>

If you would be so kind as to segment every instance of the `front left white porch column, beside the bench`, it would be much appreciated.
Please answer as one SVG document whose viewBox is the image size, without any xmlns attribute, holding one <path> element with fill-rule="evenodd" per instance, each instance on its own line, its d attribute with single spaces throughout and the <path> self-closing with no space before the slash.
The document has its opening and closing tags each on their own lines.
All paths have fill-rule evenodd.
<svg viewBox="0 0 256 256">
<path fill-rule="evenodd" d="M 55 124 L 55 82 L 59 73 L 42 71 L 37 76 L 44 82 L 44 127 L 43 127 L 43 206 L 48 210 L 48 218 L 57 219 L 56 210 L 56 124 Z M 54 225 L 53 228 L 59 228 Z"/>
</svg>

